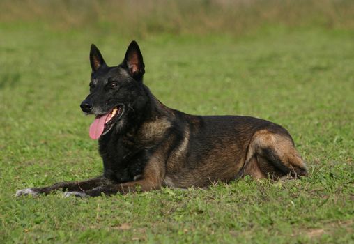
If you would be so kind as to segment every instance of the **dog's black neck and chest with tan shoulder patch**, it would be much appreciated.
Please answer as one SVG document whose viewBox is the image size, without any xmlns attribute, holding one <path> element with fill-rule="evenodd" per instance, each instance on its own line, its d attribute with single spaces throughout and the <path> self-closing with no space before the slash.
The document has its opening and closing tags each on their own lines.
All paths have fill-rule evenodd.
<svg viewBox="0 0 354 244">
<path fill-rule="evenodd" d="M 145 153 L 153 151 L 171 131 L 174 110 L 157 100 L 147 87 L 144 92 L 146 102 L 134 108 L 134 121 L 125 130 L 111 131 L 99 141 L 105 176 L 117 182 L 132 180 L 134 170 L 141 174 Z"/>
</svg>

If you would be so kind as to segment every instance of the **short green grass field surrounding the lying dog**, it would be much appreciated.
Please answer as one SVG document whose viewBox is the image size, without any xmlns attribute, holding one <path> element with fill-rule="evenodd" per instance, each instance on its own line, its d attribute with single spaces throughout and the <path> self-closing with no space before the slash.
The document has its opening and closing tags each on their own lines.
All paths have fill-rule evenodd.
<svg viewBox="0 0 354 244">
<path fill-rule="evenodd" d="M 165 105 L 279 123 L 309 177 L 88 199 L 14 193 L 100 174 L 93 117 L 79 109 L 89 47 L 116 65 L 130 38 L 9 22 L 0 36 L 0 243 L 354 243 L 353 31 L 138 38 L 145 84 Z"/>
</svg>

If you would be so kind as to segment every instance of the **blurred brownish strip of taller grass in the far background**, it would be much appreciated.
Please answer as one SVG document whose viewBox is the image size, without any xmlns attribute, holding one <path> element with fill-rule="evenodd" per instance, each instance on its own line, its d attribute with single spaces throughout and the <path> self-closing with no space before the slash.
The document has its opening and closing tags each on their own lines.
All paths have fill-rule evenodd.
<svg viewBox="0 0 354 244">
<path fill-rule="evenodd" d="M 267 24 L 354 28 L 352 0 L 2 0 L 0 22 L 98 29 L 144 38 L 157 33 L 243 36 Z"/>
</svg>

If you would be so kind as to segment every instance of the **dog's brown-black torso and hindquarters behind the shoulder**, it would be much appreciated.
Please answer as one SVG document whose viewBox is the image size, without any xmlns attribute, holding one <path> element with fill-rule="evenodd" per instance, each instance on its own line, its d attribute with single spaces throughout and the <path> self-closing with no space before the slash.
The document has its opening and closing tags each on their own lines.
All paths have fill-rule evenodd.
<svg viewBox="0 0 354 244">
<path fill-rule="evenodd" d="M 166 128 L 171 148 L 164 185 L 205 187 L 247 174 L 279 178 L 306 173 L 291 136 L 280 125 L 249 116 L 173 114 Z M 282 162 L 284 154 L 289 156 Z"/>
</svg>

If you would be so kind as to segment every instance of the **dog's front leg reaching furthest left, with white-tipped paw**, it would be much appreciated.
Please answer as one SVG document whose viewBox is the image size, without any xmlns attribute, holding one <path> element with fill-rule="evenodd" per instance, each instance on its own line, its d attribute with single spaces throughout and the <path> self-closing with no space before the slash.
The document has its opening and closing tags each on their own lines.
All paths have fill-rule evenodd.
<svg viewBox="0 0 354 244">
<path fill-rule="evenodd" d="M 26 188 L 22 190 L 17 190 L 16 196 L 22 195 L 39 195 L 39 194 L 49 194 L 54 190 L 63 190 L 71 192 L 84 192 L 92 188 L 97 188 L 100 185 L 109 184 L 109 180 L 103 176 L 97 178 L 91 178 L 86 181 L 68 181 L 68 182 L 59 182 L 54 185 L 50 185 L 44 188 Z"/>
</svg>

